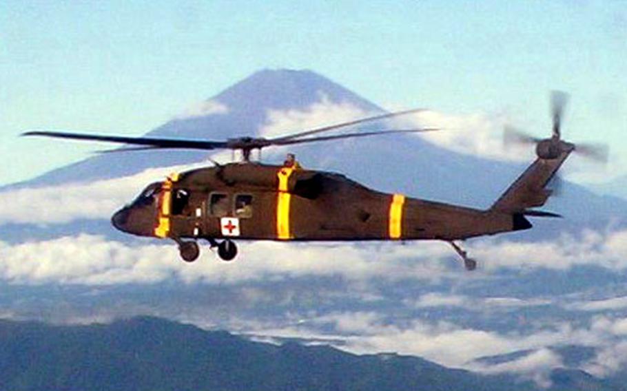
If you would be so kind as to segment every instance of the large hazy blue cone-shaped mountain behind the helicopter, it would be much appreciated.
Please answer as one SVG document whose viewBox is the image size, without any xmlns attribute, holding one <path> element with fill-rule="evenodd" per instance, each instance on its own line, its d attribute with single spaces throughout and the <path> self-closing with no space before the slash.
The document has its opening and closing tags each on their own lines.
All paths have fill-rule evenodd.
<svg viewBox="0 0 627 391">
<path fill-rule="evenodd" d="M 419 102 L 420 93 L 417 93 Z M 207 109 L 170 120 L 147 136 L 224 140 L 235 136 L 259 136 L 271 121 L 271 112 L 307 111 L 321 101 L 349 105 L 364 113 L 382 109 L 357 94 L 311 71 L 263 70 L 205 102 Z M 213 106 L 212 106 L 213 105 Z M 373 129 L 373 125 L 362 129 Z M 377 129 L 380 129 L 378 127 Z M 285 129 L 298 131 L 302 129 Z M 301 145 L 292 151 L 306 167 L 346 173 L 369 187 L 402 191 L 421 198 L 443 200 L 471 207 L 489 205 L 520 175 L 526 165 L 459 154 L 417 136 L 397 135 L 342 142 Z M 281 161 L 285 149 L 268 149 L 265 160 Z M 94 156 L 74 165 L 45 173 L 20 187 L 90 182 L 117 178 L 148 167 L 167 167 L 203 161 L 203 151 L 141 151 Z M 573 226 L 605 226 L 613 219 L 627 220 L 627 201 L 599 196 L 566 182 L 560 200 L 548 209 L 568 217 Z M 547 227 L 562 222 L 540 222 Z"/>
</svg>

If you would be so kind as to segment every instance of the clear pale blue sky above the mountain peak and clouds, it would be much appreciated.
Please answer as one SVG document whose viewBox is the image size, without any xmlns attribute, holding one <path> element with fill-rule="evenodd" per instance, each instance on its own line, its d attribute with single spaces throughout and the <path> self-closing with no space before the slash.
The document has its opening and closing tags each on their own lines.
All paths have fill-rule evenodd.
<svg viewBox="0 0 627 391">
<path fill-rule="evenodd" d="M 389 109 L 499 114 L 627 173 L 627 1 L 0 3 L 0 184 L 90 156 L 28 129 L 141 135 L 264 68 L 310 69 Z"/>
</svg>

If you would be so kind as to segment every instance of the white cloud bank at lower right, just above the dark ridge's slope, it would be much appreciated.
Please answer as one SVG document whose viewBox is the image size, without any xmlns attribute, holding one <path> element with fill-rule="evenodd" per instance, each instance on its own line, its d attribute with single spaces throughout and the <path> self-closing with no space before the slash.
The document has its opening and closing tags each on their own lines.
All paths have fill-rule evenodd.
<svg viewBox="0 0 627 391">
<path fill-rule="evenodd" d="M 568 321 L 541 328 L 497 332 L 458 326 L 449 321 L 391 319 L 373 311 L 336 312 L 311 317 L 307 321 L 277 326 L 253 321 L 241 332 L 266 340 L 284 338 L 326 341 L 356 354 L 396 352 L 414 355 L 453 368 L 485 374 L 512 373 L 550 385 L 553 368 L 564 367 L 555 348 L 588 346 L 599 354 L 581 369 L 597 376 L 607 376 L 627 365 L 627 319 L 599 317 L 575 327 Z M 529 352 L 509 361 L 489 363 L 484 357 Z"/>
</svg>

